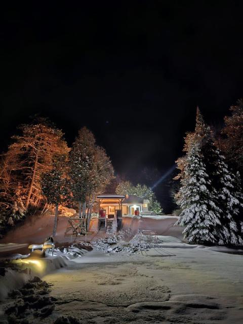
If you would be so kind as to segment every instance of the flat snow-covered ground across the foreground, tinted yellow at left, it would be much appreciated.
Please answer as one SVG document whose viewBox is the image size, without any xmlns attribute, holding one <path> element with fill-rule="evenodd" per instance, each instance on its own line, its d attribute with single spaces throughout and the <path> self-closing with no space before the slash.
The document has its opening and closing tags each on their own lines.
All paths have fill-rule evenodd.
<svg viewBox="0 0 243 324">
<path fill-rule="evenodd" d="M 56 251 L 67 259 L 42 276 L 50 285 L 46 302 L 53 297 L 45 323 L 242 323 L 242 251 L 188 245 L 172 221 L 127 218 L 118 237 L 94 236 L 91 252 Z M 165 234 L 155 240 L 137 228 Z M 11 303 L 0 304 L 0 322 Z"/>
</svg>

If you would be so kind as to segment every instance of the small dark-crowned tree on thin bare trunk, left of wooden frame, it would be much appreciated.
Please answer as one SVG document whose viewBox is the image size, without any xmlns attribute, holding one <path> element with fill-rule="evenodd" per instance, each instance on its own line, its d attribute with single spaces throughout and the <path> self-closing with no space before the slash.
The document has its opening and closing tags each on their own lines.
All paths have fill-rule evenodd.
<svg viewBox="0 0 243 324">
<path fill-rule="evenodd" d="M 66 179 L 66 156 L 55 157 L 52 170 L 42 177 L 42 190 L 50 204 L 55 204 L 55 220 L 53 227 L 54 237 L 57 231 L 58 206 L 66 200 L 68 195 L 68 185 Z"/>
</svg>

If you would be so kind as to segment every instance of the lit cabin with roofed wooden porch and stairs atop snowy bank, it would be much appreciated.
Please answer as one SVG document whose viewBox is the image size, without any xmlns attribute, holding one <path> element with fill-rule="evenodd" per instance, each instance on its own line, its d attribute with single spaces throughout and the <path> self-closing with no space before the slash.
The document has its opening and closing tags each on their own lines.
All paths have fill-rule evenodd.
<svg viewBox="0 0 243 324">
<path fill-rule="evenodd" d="M 140 215 L 148 211 L 148 200 L 135 195 L 103 194 L 97 196 L 99 229 L 108 233 L 120 230 L 123 216 Z"/>
</svg>

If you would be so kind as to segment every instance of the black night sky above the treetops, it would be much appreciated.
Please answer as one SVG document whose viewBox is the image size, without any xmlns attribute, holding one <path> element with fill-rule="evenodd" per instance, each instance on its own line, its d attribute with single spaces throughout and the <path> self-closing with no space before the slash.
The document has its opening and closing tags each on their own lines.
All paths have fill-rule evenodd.
<svg viewBox="0 0 243 324">
<path fill-rule="evenodd" d="M 118 174 L 143 181 L 146 167 L 155 180 L 182 154 L 197 105 L 218 130 L 243 97 L 241 1 L 11 6 L 1 10 L 1 150 L 40 113 L 69 145 L 90 128 Z"/>
</svg>

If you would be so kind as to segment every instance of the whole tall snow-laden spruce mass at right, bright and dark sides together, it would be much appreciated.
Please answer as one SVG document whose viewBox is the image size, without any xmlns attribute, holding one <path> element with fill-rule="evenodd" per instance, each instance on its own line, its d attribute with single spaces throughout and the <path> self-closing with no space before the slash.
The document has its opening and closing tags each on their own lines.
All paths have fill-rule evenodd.
<svg viewBox="0 0 243 324">
<path fill-rule="evenodd" d="M 181 188 L 176 200 L 182 209 L 177 224 L 186 226 L 185 238 L 194 243 L 242 245 L 239 175 L 228 169 L 198 108 L 195 132 L 187 134 L 184 151 L 186 156 L 177 161 Z"/>
</svg>

